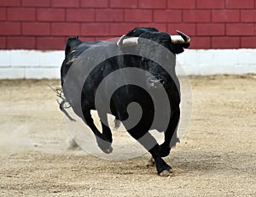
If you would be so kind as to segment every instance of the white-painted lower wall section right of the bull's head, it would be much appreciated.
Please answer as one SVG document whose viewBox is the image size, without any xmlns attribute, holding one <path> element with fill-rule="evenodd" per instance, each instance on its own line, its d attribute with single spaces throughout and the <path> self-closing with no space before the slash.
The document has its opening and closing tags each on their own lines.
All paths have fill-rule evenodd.
<svg viewBox="0 0 256 197">
<path fill-rule="evenodd" d="M 256 74 L 256 49 L 190 49 L 177 60 L 187 75 Z"/>
</svg>

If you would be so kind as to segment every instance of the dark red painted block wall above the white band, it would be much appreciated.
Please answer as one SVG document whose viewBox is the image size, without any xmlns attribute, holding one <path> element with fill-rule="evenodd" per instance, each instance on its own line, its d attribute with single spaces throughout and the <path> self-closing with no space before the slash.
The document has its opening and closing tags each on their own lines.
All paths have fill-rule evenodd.
<svg viewBox="0 0 256 197">
<path fill-rule="evenodd" d="M 256 0 L 0 0 L 0 49 L 63 49 L 67 37 L 137 26 L 184 31 L 191 48 L 255 48 Z"/>
</svg>

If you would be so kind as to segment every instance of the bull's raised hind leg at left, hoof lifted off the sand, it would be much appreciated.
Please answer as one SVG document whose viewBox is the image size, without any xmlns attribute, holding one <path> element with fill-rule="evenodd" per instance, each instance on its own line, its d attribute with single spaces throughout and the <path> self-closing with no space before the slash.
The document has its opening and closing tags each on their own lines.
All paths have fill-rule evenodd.
<svg viewBox="0 0 256 197">
<path fill-rule="evenodd" d="M 111 139 L 109 138 L 109 135 L 106 137 L 104 136 L 104 133 L 109 133 L 110 129 L 105 126 L 104 124 L 102 124 L 102 133 L 99 132 L 99 130 L 97 129 L 97 127 L 94 124 L 94 121 L 90 115 L 90 110 L 88 111 L 83 111 L 84 113 L 84 121 L 86 122 L 86 124 L 90 127 L 91 131 L 96 135 L 96 142 L 99 146 L 100 149 L 102 149 L 102 151 L 104 153 L 111 153 L 112 152 L 112 147 L 111 147 L 111 143 L 112 143 L 112 135 L 111 135 Z M 109 131 L 108 131 L 109 129 Z M 111 132 L 110 132 L 111 133 Z"/>
</svg>

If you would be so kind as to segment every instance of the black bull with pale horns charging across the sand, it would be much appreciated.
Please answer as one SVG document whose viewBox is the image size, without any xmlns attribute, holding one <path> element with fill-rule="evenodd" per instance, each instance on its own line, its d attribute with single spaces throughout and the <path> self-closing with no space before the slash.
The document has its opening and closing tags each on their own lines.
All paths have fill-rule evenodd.
<svg viewBox="0 0 256 197">
<path fill-rule="evenodd" d="M 136 44 L 130 42 L 125 46 L 127 37 L 138 37 Z M 61 65 L 63 93 L 73 111 L 95 133 L 102 151 L 112 151 L 109 113 L 122 121 L 131 136 L 148 149 L 159 174 L 171 171 L 171 166 L 161 157 L 169 155 L 178 141 L 176 130 L 180 117 L 180 91 L 175 74 L 175 54 L 189 48 L 189 37 L 183 36 L 183 40 L 173 43 L 169 34 L 154 28 L 136 28 L 119 39 L 118 44 L 81 42 L 78 37 L 67 40 L 66 58 Z M 136 69 L 142 70 L 138 76 Z M 108 79 L 102 85 L 105 77 Z M 163 96 L 162 90 L 168 98 L 167 103 L 159 99 Z M 154 102 L 155 99 L 159 102 Z M 132 119 L 129 115 L 139 114 L 140 110 L 129 112 L 132 109 L 129 104 L 133 102 L 139 104 L 142 110 L 136 125 L 126 121 Z M 98 111 L 102 132 L 96 128 L 90 110 Z M 155 116 L 160 118 L 153 124 Z M 165 132 L 163 144 L 157 144 L 148 132 L 151 129 Z"/>
</svg>

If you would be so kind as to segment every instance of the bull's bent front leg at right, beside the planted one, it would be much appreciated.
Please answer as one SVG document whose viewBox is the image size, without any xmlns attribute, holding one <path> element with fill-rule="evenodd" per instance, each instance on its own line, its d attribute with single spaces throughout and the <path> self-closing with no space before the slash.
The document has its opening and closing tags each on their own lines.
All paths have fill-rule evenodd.
<svg viewBox="0 0 256 197">
<path fill-rule="evenodd" d="M 180 118 L 180 110 L 177 108 L 172 118 L 169 121 L 168 127 L 165 132 L 165 142 L 160 144 L 160 155 L 161 157 L 168 156 L 171 148 L 175 146 L 179 139 L 177 138 L 177 125 Z"/>
</svg>

